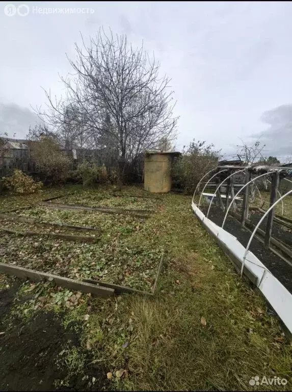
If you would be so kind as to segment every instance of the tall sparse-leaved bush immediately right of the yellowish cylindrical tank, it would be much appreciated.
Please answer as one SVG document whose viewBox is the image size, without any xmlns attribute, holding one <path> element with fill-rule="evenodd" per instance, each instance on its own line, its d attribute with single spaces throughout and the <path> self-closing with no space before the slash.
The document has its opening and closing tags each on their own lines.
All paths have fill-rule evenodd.
<svg viewBox="0 0 292 392">
<path fill-rule="evenodd" d="M 182 156 L 173 166 L 174 184 L 193 193 L 204 174 L 217 166 L 219 157 L 220 151 L 214 150 L 214 144 L 194 139 L 187 149 L 183 147 Z"/>
</svg>

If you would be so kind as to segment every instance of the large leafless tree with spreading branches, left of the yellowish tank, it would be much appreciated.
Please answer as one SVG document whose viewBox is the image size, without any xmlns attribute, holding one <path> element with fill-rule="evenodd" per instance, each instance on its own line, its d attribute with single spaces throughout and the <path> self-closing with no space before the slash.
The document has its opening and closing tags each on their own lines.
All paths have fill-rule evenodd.
<svg viewBox="0 0 292 392">
<path fill-rule="evenodd" d="M 160 77 L 160 64 L 150 59 L 143 45 L 134 49 L 124 35 L 108 36 L 101 29 L 89 45 L 83 40 L 83 48 L 75 44 L 75 50 L 77 60 L 68 59 L 74 75 L 61 78 L 65 99 L 53 100 L 45 91 L 48 103 L 37 112 L 57 131 L 70 126 L 92 143 L 112 143 L 123 178 L 126 164 L 141 152 L 155 148 L 162 138 L 175 137 L 170 79 Z M 68 105 L 78 115 L 66 111 Z M 104 127 L 105 116 L 111 127 Z"/>
</svg>

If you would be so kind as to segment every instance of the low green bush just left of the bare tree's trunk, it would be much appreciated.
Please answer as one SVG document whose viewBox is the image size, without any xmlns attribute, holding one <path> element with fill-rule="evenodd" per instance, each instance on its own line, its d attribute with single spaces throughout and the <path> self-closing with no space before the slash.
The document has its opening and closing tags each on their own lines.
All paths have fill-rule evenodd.
<svg viewBox="0 0 292 392">
<path fill-rule="evenodd" d="M 107 182 L 109 176 L 104 165 L 98 166 L 92 162 L 83 161 L 75 170 L 75 178 L 81 179 L 83 185 L 91 186 Z"/>
</svg>

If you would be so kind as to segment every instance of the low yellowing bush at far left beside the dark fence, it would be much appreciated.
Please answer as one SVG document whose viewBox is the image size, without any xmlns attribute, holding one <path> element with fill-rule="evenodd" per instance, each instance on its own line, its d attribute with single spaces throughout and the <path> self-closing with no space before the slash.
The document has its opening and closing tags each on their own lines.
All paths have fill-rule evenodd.
<svg viewBox="0 0 292 392">
<path fill-rule="evenodd" d="M 19 169 L 15 169 L 13 175 L 10 177 L 2 177 L 2 183 L 8 190 L 20 194 L 35 193 L 43 186 L 41 181 L 34 181 Z"/>
</svg>

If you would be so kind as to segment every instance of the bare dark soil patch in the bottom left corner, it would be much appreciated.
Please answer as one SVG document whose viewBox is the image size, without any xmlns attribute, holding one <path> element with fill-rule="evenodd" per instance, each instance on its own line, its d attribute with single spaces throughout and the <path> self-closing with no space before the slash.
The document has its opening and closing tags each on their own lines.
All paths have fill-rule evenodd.
<svg viewBox="0 0 292 392">
<path fill-rule="evenodd" d="M 0 390 L 105 389 L 108 380 L 100 365 L 87 366 L 88 378 L 73 376 L 69 386 L 56 388 L 55 380 L 64 379 L 67 375 L 67 370 L 58 369 L 56 358 L 66 342 L 73 346 L 79 344 L 73 325 L 66 331 L 63 329 L 62 315 L 37 312 L 27 323 L 13 317 L 13 325 L 6 328 L 3 320 L 9 316 L 19 285 L 17 281 L 11 288 L 0 291 L 0 332 L 5 332 L 0 335 Z M 94 385 L 90 385 L 92 377 L 96 379 Z"/>
</svg>

